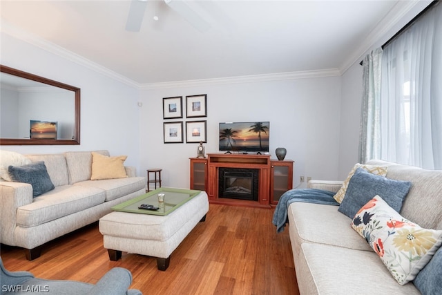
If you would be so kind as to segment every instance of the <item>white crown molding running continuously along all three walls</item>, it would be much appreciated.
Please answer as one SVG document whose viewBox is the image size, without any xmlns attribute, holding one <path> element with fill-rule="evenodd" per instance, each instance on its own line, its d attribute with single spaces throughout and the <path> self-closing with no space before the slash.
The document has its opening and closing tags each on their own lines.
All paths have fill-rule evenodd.
<svg viewBox="0 0 442 295">
<path fill-rule="evenodd" d="M 122 82 L 128 86 L 150 90 L 150 89 L 164 89 L 164 88 L 182 88 L 182 87 L 195 87 L 195 86 L 208 86 L 208 85 L 222 85 L 222 84 L 238 84 L 238 83 L 252 83 L 252 82 L 268 82 L 268 81 L 281 81 L 281 80 L 291 80 L 291 79 L 305 79 L 314 77 L 332 77 L 340 76 L 345 73 L 355 62 L 362 59 L 363 55 L 375 46 L 376 42 L 385 38 L 385 35 L 389 30 L 391 30 L 405 15 L 407 15 L 410 10 L 412 10 L 418 3 L 422 3 L 422 0 L 410 0 L 410 1 L 397 1 L 393 8 L 385 15 L 385 17 L 379 21 L 379 23 L 374 27 L 372 32 L 365 38 L 361 46 L 354 51 L 353 55 L 343 62 L 340 68 L 331 68 L 323 70 L 308 70 L 308 71 L 298 71 L 298 72 L 287 72 L 287 73 L 272 73 L 272 74 L 262 74 L 262 75 L 244 75 L 237 77 L 223 77 L 223 78 L 213 78 L 213 79 L 195 79 L 186 81 L 174 81 L 174 82 L 158 82 L 158 83 L 147 83 L 140 84 L 132 79 L 128 79 L 123 75 L 120 75 L 113 70 L 105 68 L 99 64 L 96 64 L 85 57 L 81 57 L 76 53 L 73 53 L 66 48 L 53 44 L 52 42 L 32 35 L 29 32 L 21 30 L 15 26 L 10 25 L 6 20 L 1 19 L 0 31 L 26 41 L 29 44 L 42 48 L 50 53 L 73 61 L 76 64 L 89 68 L 97 73 L 115 79 L 116 81 Z M 425 2 L 430 3 L 430 0 Z"/>
</svg>

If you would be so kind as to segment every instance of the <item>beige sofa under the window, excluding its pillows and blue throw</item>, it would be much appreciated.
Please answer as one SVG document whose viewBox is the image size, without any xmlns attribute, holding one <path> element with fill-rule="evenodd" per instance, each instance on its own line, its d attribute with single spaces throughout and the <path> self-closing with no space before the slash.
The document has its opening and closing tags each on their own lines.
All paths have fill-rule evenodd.
<svg viewBox="0 0 442 295">
<path fill-rule="evenodd" d="M 442 229 L 442 171 L 381 160 L 367 164 L 388 166 L 387 178 L 412 182 L 403 217 L 426 229 Z M 309 187 L 336 192 L 341 184 L 316 180 Z M 396 282 L 338 206 L 293 202 L 288 220 L 300 294 L 420 294 L 412 282 Z"/>
</svg>

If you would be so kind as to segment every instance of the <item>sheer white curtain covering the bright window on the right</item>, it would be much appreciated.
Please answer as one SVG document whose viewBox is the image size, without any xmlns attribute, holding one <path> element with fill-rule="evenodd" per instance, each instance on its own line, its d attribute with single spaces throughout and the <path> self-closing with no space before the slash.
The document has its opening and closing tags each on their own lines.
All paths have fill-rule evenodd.
<svg viewBox="0 0 442 295">
<path fill-rule="evenodd" d="M 383 48 L 381 158 L 442 169 L 442 5 Z"/>
</svg>

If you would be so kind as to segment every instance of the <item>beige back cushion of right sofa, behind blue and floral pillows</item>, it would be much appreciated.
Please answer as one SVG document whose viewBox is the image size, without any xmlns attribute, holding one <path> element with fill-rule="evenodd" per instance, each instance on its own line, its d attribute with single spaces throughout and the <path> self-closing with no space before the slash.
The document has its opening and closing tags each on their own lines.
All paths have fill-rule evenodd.
<svg viewBox="0 0 442 295">
<path fill-rule="evenodd" d="M 371 160 L 367 164 L 387 165 L 387 178 L 412 182 L 401 209 L 403 217 L 426 229 L 442 229 L 442 170 L 426 170 L 382 160 Z"/>
</svg>

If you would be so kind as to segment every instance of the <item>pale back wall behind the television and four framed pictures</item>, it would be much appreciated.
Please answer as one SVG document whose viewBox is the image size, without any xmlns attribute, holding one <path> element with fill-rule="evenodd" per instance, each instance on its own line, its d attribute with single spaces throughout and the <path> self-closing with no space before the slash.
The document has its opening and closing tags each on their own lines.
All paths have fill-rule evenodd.
<svg viewBox="0 0 442 295">
<path fill-rule="evenodd" d="M 186 119 L 185 96 L 207 95 L 207 117 Z M 163 120 L 162 98 L 183 97 L 184 118 Z M 163 123 L 207 121 L 206 153 L 218 152 L 219 122 L 270 122 L 270 153 L 287 149 L 299 176 L 336 179 L 338 176 L 340 77 L 247 82 L 188 88 L 144 90 L 140 116 L 140 164 L 162 168 L 164 186 L 189 187 L 189 158 L 198 144 L 164 144 Z M 184 132 L 184 131 L 183 131 Z M 146 172 L 146 171 L 144 171 Z M 301 187 L 305 187 L 305 184 Z"/>
</svg>

